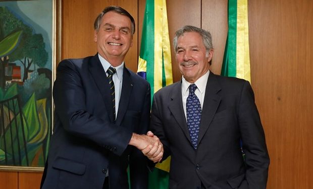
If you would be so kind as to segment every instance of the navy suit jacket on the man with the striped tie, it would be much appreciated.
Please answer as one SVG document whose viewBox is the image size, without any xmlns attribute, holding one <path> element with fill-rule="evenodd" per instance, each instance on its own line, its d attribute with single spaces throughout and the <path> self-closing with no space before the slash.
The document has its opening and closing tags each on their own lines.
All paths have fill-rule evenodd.
<svg viewBox="0 0 313 189">
<path fill-rule="evenodd" d="M 60 62 L 54 84 L 54 134 L 43 188 L 147 188 L 146 158 L 128 146 L 132 132 L 146 134 L 150 86 L 124 67 L 116 122 L 110 86 L 98 55 Z"/>
</svg>

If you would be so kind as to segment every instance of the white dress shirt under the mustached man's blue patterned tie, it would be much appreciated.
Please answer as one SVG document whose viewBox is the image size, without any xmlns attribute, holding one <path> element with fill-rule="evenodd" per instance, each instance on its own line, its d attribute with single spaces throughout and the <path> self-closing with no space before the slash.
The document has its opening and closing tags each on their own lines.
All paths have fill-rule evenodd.
<svg viewBox="0 0 313 189">
<path fill-rule="evenodd" d="M 194 82 L 194 84 L 197 86 L 197 89 L 194 91 L 194 93 L 200 101 L 201 109 L 203 107 L 206 83 L 207 83 L 207 78 L 209 74 L 210 74 L 210 70 L 208 70 L 203 76 L 201 76 L 197 81 Z M 189 95 L 189 86 L 191 84 L 192 83 L 187 82 L 184 77 L 182 78 L 182 101 L 183 101 L 183 108 L 184 108 L 186 120 L 187 120 L 186 101 Z"/>
</svg>

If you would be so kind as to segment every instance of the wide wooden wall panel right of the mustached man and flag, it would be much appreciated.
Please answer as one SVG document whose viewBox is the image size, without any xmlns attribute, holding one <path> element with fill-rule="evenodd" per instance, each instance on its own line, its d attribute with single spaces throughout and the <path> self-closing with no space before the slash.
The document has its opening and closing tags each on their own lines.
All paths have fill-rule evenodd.
<svg viewBox="0 0 313 189">
<path fill-rule="evenodd" d="M 252 87 L 271 157 L 268 188 L 311 188 L 313 3 L 248 5 Z"/>
</svg>

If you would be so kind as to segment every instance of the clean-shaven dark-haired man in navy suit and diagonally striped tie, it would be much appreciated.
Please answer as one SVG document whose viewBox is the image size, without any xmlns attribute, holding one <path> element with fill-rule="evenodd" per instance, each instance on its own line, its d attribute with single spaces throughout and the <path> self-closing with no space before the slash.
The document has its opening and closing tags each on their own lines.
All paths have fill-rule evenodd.
<svg viewBox="0 0 313 189">
<path fill-rule="evenodd" d="M 54 134 L 42 188 L 128 189 L 128 166 L 131 188 L 147 188 L 147 158 L 140 150 L 162 145 L 157 137 L 143 135 L 150 86 L 124 65 L 134 19 L 110 6 L 96 18 L 94 29 L 98 53 L 58 66 Z"/>
</svg>

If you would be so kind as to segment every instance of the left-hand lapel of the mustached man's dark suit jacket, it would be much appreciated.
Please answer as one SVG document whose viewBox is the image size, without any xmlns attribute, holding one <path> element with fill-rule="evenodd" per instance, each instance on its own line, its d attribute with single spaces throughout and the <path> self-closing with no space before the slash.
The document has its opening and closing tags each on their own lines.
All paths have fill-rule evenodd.
<svg viewBox="0 0 313 189">
<path fill-rule="evenodd" d="M 174 85 L 175 86 L 172 90 L 171 100 L 169 102 L 169 109 L 191 144 L 190 135 L 187 128 L 187 121 L 182 105 L 181 82 L 176 82 Z"/>
</svg>

